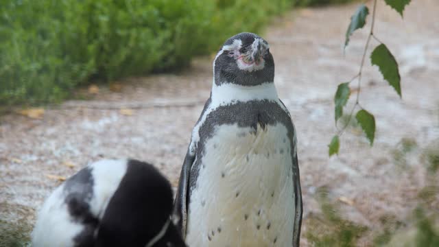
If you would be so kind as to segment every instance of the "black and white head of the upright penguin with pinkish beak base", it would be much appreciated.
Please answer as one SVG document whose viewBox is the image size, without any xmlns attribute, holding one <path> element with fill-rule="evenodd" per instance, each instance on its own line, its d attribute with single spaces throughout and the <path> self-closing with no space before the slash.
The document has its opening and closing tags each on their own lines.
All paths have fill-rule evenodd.
<svg viewBox="0 0 439 247">
<path fill-rule="evenodd" d="M 213 61 L 215 84 L 255 86 L 274 80 L 274 60 L 263 38 L 241 33 L 229 38 Z"/>
</svg>

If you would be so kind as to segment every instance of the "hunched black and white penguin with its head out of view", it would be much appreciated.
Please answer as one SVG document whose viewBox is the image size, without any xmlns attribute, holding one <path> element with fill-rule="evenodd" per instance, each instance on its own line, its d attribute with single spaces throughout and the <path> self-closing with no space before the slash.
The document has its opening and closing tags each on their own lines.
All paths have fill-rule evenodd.
<svg viewBox="0 0 439 247">
<path fill-rule="evenodd" d="M 185 246 L 171 223 L 172 190 L 148 163 L 103 160 L 55 189 L 40 209 L 32 246 Z"/>
</svg>

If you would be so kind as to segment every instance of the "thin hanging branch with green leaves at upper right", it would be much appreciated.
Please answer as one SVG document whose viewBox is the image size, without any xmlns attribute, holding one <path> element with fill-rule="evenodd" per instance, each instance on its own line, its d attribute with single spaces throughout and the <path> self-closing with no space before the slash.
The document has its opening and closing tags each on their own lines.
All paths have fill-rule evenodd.
<svg viewBox="0 0 439 247">
<path fill-rule="evenodd" d="M 410 3 L 411 0 L 384 0 L 385 3 L 390 5 L 391 8 L 396 10 L 403 17 L 403 11 L 405 5 Z M 375 14 L 377 12 L 377 0 L 373 1 L 373 10 L 372 10 L 372 23 L 370 25 L 370 31 L 368 34 L 368 38 L 366 40 L 366 45 L 364 45 L 363 56 L 361 58 L 361 63 L 359 65 L 358 73 L 348 82 L 343 82 L 337 86 L 337 91 L 335 92 L 334 103 L 335 103 L 335 127 L 337 128 L 337 134 L 332 138 L 331 143 L 329 143 L 329 156 L 333 154 L 338 154 L 340 150 L 340 137 L 344 133 L 344 130 L 348 128 L 348 125 L 351 123 L 353 114 L 357 108 L 359 110 L 355 114 L 355 119 L 357 119 L 361 129 L 366 134 L 367 139 L 369 140 L 370 145 L 373 145 L 373 141 L 375 139 L 375 117 L 372 113 L 368 112 L 364 109 L 361 104 L 359 104 L 359 94 L 361 93 L 361 75 L 364 67 L 364 61 L 366 60 L 366 54 L 368 51 L 368 47 L 370 45 L 370 40 L 374 38 L 379 45 L 375 47 L 370 55 L 370 62 L 372 65 L 377 65 L 379 67 L 379 71 L 383 75 L 384 80 L 386 80 L 390 86 L 392 86 L 396 93 L 398 93 L 399 97 L 402 97 L 401 94 L 401 76 L 399 75 L 398 63 L 396 62 L 394 56 L 389 51 L 389 49 L 385 46 L 384 43 L 377 38 L 374 34 L 375 27 Z M 366 17 L 369 14 L 369 9 L 366 5 L 361 4 L 353 16 L 351 16 L 351 23 L 348 26 L 348 30 L 346 31 L 346 40 L 344 42 L 344 48 L 349 43 L 349 38 L 355 32 L 355 30 L 359 30 L 364 25 L 366 25 Z M 357 95 L 355 97 L 355 104 L 352 106 L 349 115 L 348 121 L 339 128 L 337 126 L 337 121 L 343 115 L 343 108 L 346 106 L 349 97 L 351 96 L 351 88 L 349 84 L 357 80 Z"/>
</svg>

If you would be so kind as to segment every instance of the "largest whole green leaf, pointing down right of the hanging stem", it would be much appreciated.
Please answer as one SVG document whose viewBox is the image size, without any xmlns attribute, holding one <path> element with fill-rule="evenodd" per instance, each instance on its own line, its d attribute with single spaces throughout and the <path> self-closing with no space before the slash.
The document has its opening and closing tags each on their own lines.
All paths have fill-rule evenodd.
<svg viewBox="0 0 439 247">
<path fill-rule="evenodd" d="M 388 81 L 390 86 L 396 90 L 399 97 L 401 96 L 401 75 L 399 75 L 398 63 L 389 49 L 384 44 L 377 46 L 370 55 L 372 64 L 379 67 L 379 71 L 383 74 L 384 80 Z"/>
</svg>

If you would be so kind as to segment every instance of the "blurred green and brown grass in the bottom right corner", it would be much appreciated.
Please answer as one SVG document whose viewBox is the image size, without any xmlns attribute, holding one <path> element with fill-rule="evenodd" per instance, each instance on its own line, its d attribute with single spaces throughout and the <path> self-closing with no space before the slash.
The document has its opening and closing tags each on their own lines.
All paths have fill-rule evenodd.
<svg viewBox="0 0 439 247">
<path fill-rule="evenodd" d="M 311 246 L 322 247 L 355 247 L 362 237 L 371 237 L 373 246 L 439 246 L 439 215 L 428 205 L 436 200 L 437 193 L 437 185 L 421 189 L 412 217 L 401 221 L 396 215 L 383 215 L 378 228 L 369 229 L 346 220 L 339 205 L 330 200 L 329 191 L 322 187 L 316 198 L 322 213 L 309 213 L 304 237 Z"/>
</svg>

